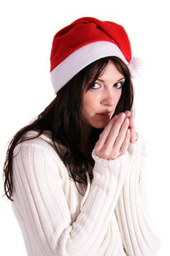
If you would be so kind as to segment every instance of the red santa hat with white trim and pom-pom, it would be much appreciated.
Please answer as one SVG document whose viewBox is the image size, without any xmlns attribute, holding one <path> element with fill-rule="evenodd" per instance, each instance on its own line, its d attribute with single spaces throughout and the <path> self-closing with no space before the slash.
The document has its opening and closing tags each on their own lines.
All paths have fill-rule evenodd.
<svg viewBox="0 0 170 256">
<path fill-rule="evenodd" d="M 123 26 L 96 18 L 80 18 L 58 31 L 51 50 L 51 80 L 57 93 L 88 64 L 107 56 L 117 56 L 136 76 L 142 63 L 131 56 L 131 45 Z"/>
</svg>

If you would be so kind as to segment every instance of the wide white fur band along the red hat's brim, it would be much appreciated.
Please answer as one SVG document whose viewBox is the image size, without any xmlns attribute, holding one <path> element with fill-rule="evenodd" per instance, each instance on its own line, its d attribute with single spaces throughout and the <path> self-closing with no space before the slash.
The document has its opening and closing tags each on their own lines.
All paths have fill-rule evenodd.
<svg viewBox="0 0 170 256">
<path fill-rule="evenodd" d="M 92 42 L 82 48 L 75 50 L 74 53 L 64 59 L 51 72 L 51 81 L 55 93 L 57 93 L 74 75 L 76 75 L 88 64 L 107 56 L 117 56 L 128 64 L 120 48 L 112 42 L 100 41 Z M 64 74 L 64 75 L 63 75 Z"/>
</svg>

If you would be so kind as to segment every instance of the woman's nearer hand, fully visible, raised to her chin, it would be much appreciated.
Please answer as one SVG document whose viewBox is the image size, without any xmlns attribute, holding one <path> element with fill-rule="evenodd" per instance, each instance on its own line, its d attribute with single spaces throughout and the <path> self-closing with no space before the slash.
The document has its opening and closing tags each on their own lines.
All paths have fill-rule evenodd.
<svg viewBox="0 0 170 256">
<path fill-rule="evenodd" d="M 131 138 L 129 119 L 120 113 L 109 121 L 95 145 L 95 153 L 103 159 L 115 159 L 125 154 Z"/>
</svg>

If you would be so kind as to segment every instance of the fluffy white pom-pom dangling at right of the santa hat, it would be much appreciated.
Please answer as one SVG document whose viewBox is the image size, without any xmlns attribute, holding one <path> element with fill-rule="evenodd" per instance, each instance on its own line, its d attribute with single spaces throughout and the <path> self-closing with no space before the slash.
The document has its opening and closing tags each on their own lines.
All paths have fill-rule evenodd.
<svg viewBox="0 0 170 256">
<path fill-rule="evenodd" d="M 131 78 L 142 78 L 144 75 L 142 59 L 133 57 L 131 62 L 128 64 L 128 69 L 131 72 Z"/>
</svg>

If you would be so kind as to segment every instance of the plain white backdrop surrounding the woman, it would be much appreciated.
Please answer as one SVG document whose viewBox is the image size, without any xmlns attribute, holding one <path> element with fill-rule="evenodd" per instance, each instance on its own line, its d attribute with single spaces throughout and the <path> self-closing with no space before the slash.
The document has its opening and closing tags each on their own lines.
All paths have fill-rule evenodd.
<svg viewBox="0 0 170 256">
<path fill-rule="evenodd" d="M 144 62 L 144 78 L 134 81 L 136 125 L 147 144 L 150 214 L 162 240 L 158 255 L 169 255 L 168 1 L 1 1 L 1 170 L 9 139 L 55 97 L 50 83 L 50 48 L 55 32 L 82 16 L 122 24 L 134 55 Z M 0 195 L 2 184 L 1 179 Z M 0 255 L 26 256 L 10 203 L 1 197 L 0 204 Z"/>
</svg>

